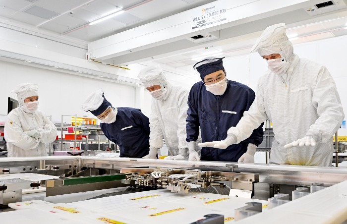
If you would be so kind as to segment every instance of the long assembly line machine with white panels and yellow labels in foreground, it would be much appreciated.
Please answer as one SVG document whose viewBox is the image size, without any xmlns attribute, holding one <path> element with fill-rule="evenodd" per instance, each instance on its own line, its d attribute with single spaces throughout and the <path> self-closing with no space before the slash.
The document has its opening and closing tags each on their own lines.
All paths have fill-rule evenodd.
<svg viewBox="0 0 347 224">
<path fill-rule="evenodd" d="M 0 223 L 345 223 L 346 180 L 347 168 L 0 158 Z"/>
</svg>

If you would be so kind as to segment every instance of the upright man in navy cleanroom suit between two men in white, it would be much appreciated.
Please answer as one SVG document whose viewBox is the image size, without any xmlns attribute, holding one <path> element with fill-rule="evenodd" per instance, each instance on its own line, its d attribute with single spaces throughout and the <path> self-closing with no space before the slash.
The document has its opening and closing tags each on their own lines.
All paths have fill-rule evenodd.
<svg viewBox="0 0 347 224">
<path fill-rule="evenodd" d="M 208 58 L 194 65 L 202 81 L 193 85 L 188 96 L 186 140 L 189 160 L 237 162 L 247 149 L 255 151 L 263 140 L 261 124 L 248 139 L 239 144 L 230 145 L 226 149 L 203 147 L 201 158 L 195 153 L 194 143 L 199 128 L 202 142 L 224 140 L 228 129 L 236 126 L 255 98 L 251 88 L 227 79 L 223 58 Z"/>
</svg>

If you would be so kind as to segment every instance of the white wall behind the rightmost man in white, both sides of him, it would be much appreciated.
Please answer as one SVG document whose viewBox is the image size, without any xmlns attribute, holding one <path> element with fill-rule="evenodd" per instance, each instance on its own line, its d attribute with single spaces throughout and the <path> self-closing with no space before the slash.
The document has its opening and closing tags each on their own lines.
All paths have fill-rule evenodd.
<svg viewBox="0 0 347 224">
<path fill-rule="evenodd" d="M 333 76 L 344 111 L 347 113 L 347 36 L 294 45 L 294 53 L 326 66 Z M 231 80 L 248 85 L 256 92 L 261 75 L 267 70 L 267 63 L 258 53 L 226 58 L 224 66 Z M 249 69 L 249 70 L 248 70 Z M 347 135 L 345 128 L 339 135 Z"/>
</svg>

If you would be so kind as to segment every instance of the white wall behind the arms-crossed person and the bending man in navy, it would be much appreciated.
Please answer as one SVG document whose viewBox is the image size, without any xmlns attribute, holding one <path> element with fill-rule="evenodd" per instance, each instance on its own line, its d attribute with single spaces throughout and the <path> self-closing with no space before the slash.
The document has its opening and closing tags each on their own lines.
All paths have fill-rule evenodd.
<svg viewBox="0 0 347 224">
<path fill-rule="evenodd" d="M 0 76 L 0 114 L 7 114 L 7 97 L 17 99 L 10 91 L 17 84 L 26 82 L 39 85 L 39 109 L 52 115 L 55 122 L 61 121 L 62 114 L 93 117 L 82 110 L 81 104 L 98 89 L 105 92 L 106 99 L 114 107 L 135 107 L 135 88 L 132 86 L 5 61 L 0 61 Z"/>
</svg>

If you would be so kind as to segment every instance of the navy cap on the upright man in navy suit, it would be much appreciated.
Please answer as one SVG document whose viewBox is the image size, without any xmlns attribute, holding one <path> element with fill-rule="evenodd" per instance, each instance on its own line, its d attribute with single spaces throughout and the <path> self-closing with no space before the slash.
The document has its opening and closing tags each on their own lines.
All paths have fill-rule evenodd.
<svg viewBox="0 0 347 224">
<path fill-rule="evenodd" d="M 206 75 L 216 71 L 225 71 L 223 67 L 223 58 L 225 57 L 210 57 L 194 64 L 194 69 L 200 73 L 201 80 L 204 80 Z"/>
</svg>

